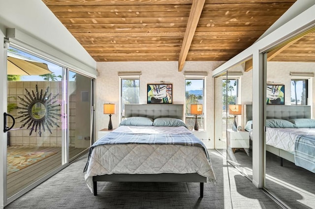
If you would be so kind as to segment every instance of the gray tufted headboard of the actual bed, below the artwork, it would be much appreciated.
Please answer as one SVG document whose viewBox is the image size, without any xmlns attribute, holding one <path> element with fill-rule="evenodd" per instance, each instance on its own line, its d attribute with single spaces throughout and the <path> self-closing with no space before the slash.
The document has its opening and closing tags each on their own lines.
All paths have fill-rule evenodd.
<svg viewBox="0 0 315 209">
<path fill-rule="evenodd" d="M 125 117 L 178 118 L 184 120 L 184 104 L 125 104 Z"/>
</svg>

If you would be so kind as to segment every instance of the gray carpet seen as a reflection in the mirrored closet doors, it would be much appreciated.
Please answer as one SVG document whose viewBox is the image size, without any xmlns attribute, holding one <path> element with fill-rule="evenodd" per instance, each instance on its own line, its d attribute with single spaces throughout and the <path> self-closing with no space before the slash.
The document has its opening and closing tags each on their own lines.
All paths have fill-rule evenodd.
<svg viewBox="0 0 315 209">
<path fill-rule="evenodd" d="M 236 152 L 233 156 L 235 166 L 252 178 L 252 152 Z M 315 208 L 315 173 L 266 152 L 266 188 L 292 209 Z M 248 169 L 246 169 L 248 168 Z"/>
</svg>

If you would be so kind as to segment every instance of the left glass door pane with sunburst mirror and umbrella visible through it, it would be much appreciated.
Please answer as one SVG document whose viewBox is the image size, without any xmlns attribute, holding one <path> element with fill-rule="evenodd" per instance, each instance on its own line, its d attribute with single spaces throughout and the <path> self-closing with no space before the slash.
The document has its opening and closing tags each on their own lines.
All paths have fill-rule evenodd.
<svg viewBox="0 0 315 209">
<path fill-rule="evenodd" d="M 7 111 L 15 125 L 7 132 L 7 198 L 62 165 L 63 69 L 18 49 L 8 50 Z M 41 69 L 30 64 L 30 60 Z M 8 126 L 12 120 L 8 117 Z"/>
</svg>

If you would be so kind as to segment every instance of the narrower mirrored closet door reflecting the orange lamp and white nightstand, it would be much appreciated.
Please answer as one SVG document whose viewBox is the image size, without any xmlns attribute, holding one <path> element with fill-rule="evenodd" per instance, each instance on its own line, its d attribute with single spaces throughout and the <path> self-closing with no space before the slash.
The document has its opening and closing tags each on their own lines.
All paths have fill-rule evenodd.
<svg viewBox="0 0 315 209">
<path fill-rule="evenodd" d="M 226 108 L 226 140 L 227 160 L 252 179 L 252 112 L 247 105 L 252 106 L 252 70 L 251 60 L 240 63 L 227 71 L 227 79 L 223 80 L 225 87 Z M 252 108 L 250 108 L 252 109 Z"/>
</svg>

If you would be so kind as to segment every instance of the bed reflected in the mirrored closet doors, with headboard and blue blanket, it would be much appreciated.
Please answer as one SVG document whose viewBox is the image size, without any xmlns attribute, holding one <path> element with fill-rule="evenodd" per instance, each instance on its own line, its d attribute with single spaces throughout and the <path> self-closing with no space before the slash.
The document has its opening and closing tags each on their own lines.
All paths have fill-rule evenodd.
<svg viewBox="0 0 315 209">
<path fill-rule="evenodd" d="M 268 104 L 266 108 L 266 151 L 281 157 L 281 166 L 286 159 L 315 173 L 315 120 L 311 119 L 311 106 Z M 250 132 L 251 114 L 252 105 L 246 105 L 246 129 Z"/>
</svg>

